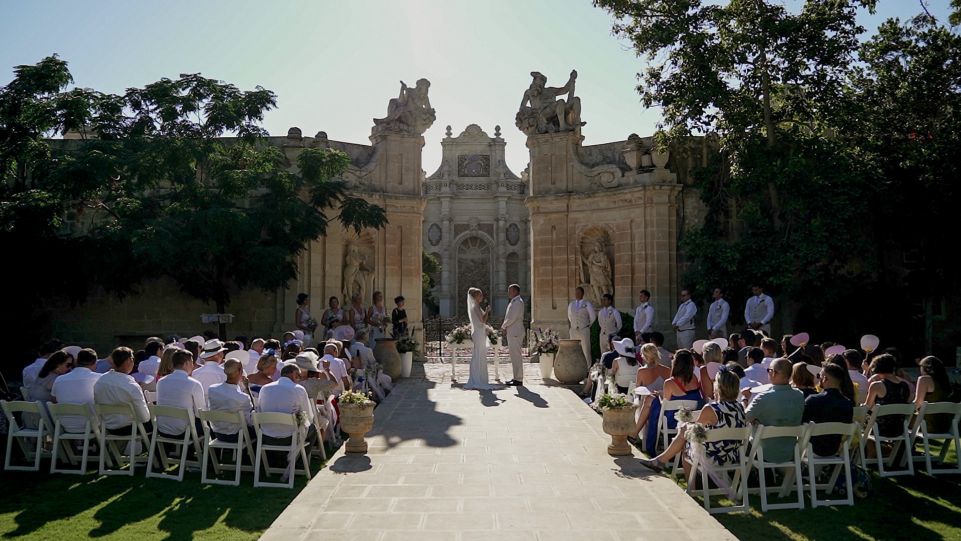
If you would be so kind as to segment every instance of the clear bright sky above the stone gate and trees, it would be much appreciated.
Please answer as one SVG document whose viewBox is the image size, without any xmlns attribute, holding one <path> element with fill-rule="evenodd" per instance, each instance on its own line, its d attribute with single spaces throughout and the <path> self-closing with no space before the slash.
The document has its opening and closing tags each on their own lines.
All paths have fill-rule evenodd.
<svg viewBox="0 0 961 541">
<path fill-rule="evenodd" d="M 783 0 L 797 9 L 800 0 Z M 947 20 L 949 0 L 929 0 Z M 874 30 L 889 16 L 920 13 L 917 0 L 878 0 L 862 16 Z M 578 70 L 585 144 L 651 135 L 656 110 L 634 90 L 644 64 L 610 35 L 610 17 L 589 0 L 45 1 L 0 0 L 0 85 L 12 66 L 59 53 L 77 86 L 122 92 L 161 77 L 201 72 L 241 89 L 274 90 L 265 127 L 284 135 L 326 131 L 368 143 L 399 81 L 431 81 L 437 120 L 424 134 L 424 169 L 440 161 L 445 127 L 470 123 L 493 137 L 500 125 L 507 165 L 527 166 L 514 114 L 530 71 L 548 85 Z"/>
</svg>

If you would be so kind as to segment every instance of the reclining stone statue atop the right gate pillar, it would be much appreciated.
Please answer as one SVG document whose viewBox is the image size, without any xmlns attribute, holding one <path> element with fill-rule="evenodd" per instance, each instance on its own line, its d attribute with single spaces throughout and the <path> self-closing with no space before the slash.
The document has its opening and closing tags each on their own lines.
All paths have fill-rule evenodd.
<svg viewBox="0 0 961 541">
<path fill-rule="evenodd" d="M 574 82 L 578 79 L 577 70 L 571 71 L 571 78 L 561 88 L 548 87 L 547 77 L 538 71 L 531 71 L 530 88 L 524 91 L 521 109 L 517 112 L 517 128 L 524 135 L 550 134 L 554 132 L 580 133 L 580 98 L 574 95 Z M 567 94 L 567 100 L 554 99 Z M 530 107 L 528 107 L 530 103 Z"/>
</svg>

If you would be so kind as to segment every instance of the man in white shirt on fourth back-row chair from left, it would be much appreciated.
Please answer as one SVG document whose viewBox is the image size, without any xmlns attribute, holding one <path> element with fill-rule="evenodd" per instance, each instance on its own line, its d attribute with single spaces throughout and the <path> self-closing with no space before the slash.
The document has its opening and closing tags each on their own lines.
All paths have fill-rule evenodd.
<svg viewBox="0 0 961 541">
<path fill-rule="evenodd" d="M 194 370 L 193 355 L 184 349 L 174 351 L 171 364 L 174 371 L 157 382 L 157 405 L 179 407 L 193 412 L 194 425 L 204 432 L 200 422 L 200 410 L 207 409 L 207 397 L 200 380 L 191 377 L 201 369 Z M 158 417 L 157 429 L 167 436 L 177 436 L 186 430 L 186 421 L 173 417 Z"/>
</svg>

